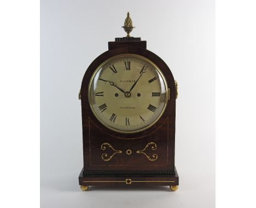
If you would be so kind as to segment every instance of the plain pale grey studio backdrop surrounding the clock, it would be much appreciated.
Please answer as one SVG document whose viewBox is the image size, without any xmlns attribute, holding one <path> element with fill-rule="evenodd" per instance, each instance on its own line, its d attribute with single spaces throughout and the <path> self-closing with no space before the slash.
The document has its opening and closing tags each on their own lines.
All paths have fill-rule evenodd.
<svg viewBox="0 0 256 208">
<path fill-rule="evenodd" d="M 40 3 L 41 207 L 214 207 L 213 0 L 79 1 Z M 179 84 L 176 167 L 180 185 L 97 188 L 82 192 L 82 120 L 78 91 L 86 68 L 124 36 L 130 11 L 133 36 L 165 60 Z M 97 44 L 95 44 L 95 42 Z"/>
</svg>

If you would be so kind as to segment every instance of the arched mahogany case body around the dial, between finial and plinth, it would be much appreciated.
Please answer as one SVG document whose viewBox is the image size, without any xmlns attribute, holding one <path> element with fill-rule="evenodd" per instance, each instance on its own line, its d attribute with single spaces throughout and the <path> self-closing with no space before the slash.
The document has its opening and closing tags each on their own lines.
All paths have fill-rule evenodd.
<svg viewBox="0 0 256 208">
<path fill-rule="evenodd" d="M 80 176 L 168 176 L 174 167 L 176 89 L 165 62 L 146 49 L 146 41 L 108 42 L 109 50 L 98 56 L 86 70 L 81 87 L 84 168 Z M 149 129 L 131 134 L 111 131 L 92 113 L 88 87 L 97 66 L 119 54 L 138 54 L 154 62 L 164 74 L 170 99 L 162 117 Z"/>
</svg>

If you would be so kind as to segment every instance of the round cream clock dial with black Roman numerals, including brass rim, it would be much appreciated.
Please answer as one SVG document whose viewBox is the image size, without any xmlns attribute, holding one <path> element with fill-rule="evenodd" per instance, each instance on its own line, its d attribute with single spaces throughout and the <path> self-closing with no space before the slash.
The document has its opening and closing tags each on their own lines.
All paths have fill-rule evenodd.
<svg viewBox="0 0 256 208">
<path fill-rule="evenodd" d="M 167 105 L 167 83 L 160 69 L 135 54 L 112 57 L 95 70 L 89 103 L 108 129 L 135 133 L 158 121 Z"/>
</svg>

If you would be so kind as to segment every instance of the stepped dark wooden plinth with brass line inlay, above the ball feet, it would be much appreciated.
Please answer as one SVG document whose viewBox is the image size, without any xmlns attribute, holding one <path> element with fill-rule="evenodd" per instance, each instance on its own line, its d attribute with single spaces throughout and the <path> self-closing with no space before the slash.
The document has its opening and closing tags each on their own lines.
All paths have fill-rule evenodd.
<svg viewBox="0 0 256 208">
<path fill-rule="evenodd" d="M 79 185 L 82 186 L 178 186 L 179 176 L 85 176 L 84 170 L 79 175 Z"/>
</svg>

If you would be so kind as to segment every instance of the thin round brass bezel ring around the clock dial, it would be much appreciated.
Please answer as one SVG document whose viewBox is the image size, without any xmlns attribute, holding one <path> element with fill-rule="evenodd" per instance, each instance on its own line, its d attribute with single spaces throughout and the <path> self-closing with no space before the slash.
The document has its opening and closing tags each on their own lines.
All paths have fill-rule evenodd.
<svg viewBox="0 0 256 208">
<path fill-rule="evenodd" d="M 107 125 L 106 123 L 104 123 L 99 117 L 98 115 L 95 113 L 94 111 L 94 108 L 92 107 L 92 103 L 91 103 L 91 99 L 90 99 L 90 91 L 91 91 L 91 83 L 92 83 L 92 80 L 94 79 L 95 75 L 97 74 L 98 70 L 100 70 L 102 68 L 102 66 L 104 64 L 106 64 L 107 62 L 109 62 L 110 60 L 112 59 L 117 59 L 117 58 L 122 58 L 122 57 L 136 57 L 136 58 L 140 58 L 148 63 L 150 63 L 151 65 L 154 66 L 154 68 L 156 69 L 156 71 L 159 72 L 160 76 L 162 77 L 162 80 L 164 81 L 164 84 L 165 84 L 165 105 L 164 105 L 164 108 L 162 109 L 162 112 L 160 113 L 159 117 L 153 122 L 151 123 L 150 125 L 148 126 L 145 126 L 143 127 L 142 129 L 139 129 L 139 130 L 135 130 L 135 131 L 122 131 L 122 130 L 117 130 L 117 129 L 114 129 L 112 127 L 110 127 L 109 125 Z M 88 101 L 89 101 L 89 105 L 90 105 L 90 108 L 91 108 L 91 111 L 92 113 L 94 114 L 94 116 L 96 117 L 96 119 L 105 127 L 107 127 L 107 129 L 109 130 L 112 130 L 114 132 L 119 132 L 119 133 L 138 133 L 138 132 L 142 132 L 142 131 L 145 131 L 147 129 L 149 129 L 150 127 L 152 127 L 154 124 L 156 124 L 156 122 L 159 121 L 159 119 L 161 118 L 162 114 L 164 114 L 165 112 L 165 109 L 166 109 L 166 106 L 167 106 L 167 102 L 168 102 L 168 85 L 167 85 L 167 82 L 166 82 L 166 79 L 165 79 L 165 76 L 164 74 L 162 74 L 161 70 L 159 69 L 159 67 L 154 63 L 152 62 L 152 60 L 149 60 L 148 58 L 146 57 L 143 57 L 143 56 L 140 56 L 138 54 L 134 54 L 134 53 L 124 53 L 124 54 L 119 54 L 119 55 L 116 55 L 116 56 L 113 56 L 111 58 L 108 58 L 107 60 L 105 60 L 104 62 L 102 62 L 97 68 L 96 70 L 94 71 L 94 74 L 92 74 L 91 76 L 91 79 L 90 79 L 90 82 L 89 82 L 89 86 L 88 86 Z"/>
</svg>

